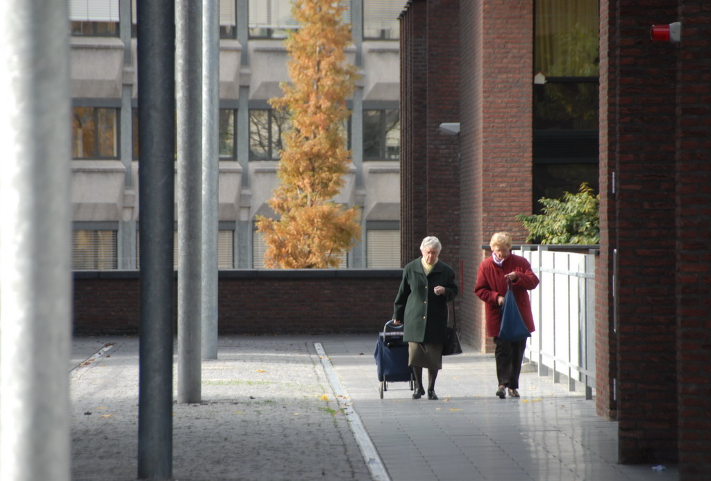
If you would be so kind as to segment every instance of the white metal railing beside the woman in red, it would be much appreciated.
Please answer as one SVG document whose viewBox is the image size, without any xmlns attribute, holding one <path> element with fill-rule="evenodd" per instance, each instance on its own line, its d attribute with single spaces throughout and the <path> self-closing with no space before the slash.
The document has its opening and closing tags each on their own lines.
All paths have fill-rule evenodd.
<svg viewBox="0 0 711 481">
<path fill-rule="evenodd" d="M 556 250 L 551 250 L 555 248 Z M 540 284 L 530 292 L 536 330 L 525 358 L 539 376 L 565 376 L 570 391 L 595 388 L 595 254 L 597 246 L 521 245 L 514 253 L 530 262 Z M 588 252 L 585 253 L 584 251 Z M 581 384 L 581 386 L 577 386 Z"/>
</svg>

